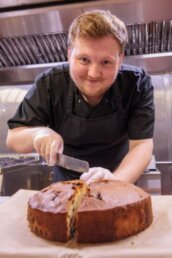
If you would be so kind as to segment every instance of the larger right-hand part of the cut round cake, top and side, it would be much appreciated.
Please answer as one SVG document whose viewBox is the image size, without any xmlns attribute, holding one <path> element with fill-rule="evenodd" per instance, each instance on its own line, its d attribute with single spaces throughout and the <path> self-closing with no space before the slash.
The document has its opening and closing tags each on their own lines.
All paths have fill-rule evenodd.
<svg viewBox="0 0 172 258">
<path fill-rule="evenodd" d="M 76 241 L 122 239 L 143 231 L 152 220 L 151 197 L 141 188 L 124 181 L 94 182 L 78 208 Z"/>
</svg>

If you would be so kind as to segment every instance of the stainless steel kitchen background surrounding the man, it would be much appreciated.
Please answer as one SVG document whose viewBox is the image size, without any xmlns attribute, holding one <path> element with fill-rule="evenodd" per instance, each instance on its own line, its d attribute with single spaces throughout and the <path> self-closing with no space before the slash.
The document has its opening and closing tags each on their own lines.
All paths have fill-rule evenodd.
<svg viewBox="0 0 172 258">
<path fill-rule="evenodd" d="M 71 21 L 90 9 L 110 10 L 127 25 L 125 62 L 143 67 L 155 89 L 154 156 L 138 185 L 172 194 L 172 1 L 0 1 L 0 192 L 40 189 L 51 169 L 38 157 L 15 156 L 6 145 L 7 120 L 40 72 L 67 61 Z M 34 166 L 28 164 L 33 163 Z"/>
</svg>

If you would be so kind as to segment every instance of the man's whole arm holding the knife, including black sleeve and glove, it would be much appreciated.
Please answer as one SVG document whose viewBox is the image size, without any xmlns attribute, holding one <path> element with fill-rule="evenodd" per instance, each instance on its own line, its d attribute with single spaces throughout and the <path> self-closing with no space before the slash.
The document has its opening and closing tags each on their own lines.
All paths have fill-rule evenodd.
<svg viewBox="0 0 172 258">
<path fill-rule="evenodd" d="M 6 140 L 8 148 L 19 153 L 36 151 L 48 164 L 53 163 L 57 152 L 63 151 L 62 137 L 49 128 L 54 128 L 54 123 L 59 125 L 64 113 L 61 103 L 66 101 L 62 98 L 65 87 L 60 83 L 63 74 L 58 74 L 54 76 L 54 69 L 51 69 L 38 75 L 7 122 L 10 128 Z"/>
</svg>

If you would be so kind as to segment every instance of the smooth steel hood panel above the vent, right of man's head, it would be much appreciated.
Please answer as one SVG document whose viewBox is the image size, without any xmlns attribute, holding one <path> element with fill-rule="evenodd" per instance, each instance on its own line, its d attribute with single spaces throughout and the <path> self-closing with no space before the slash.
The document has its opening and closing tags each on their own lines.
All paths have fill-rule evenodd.
<svg viewBox="0 0 172 258">
<path fill-rule="evenodd" d="M 98 6 L 110 10 L 121 18 L 126 24 L 145 23 L 172 18 L 171 0 L 123 0 L 106 1 Z M 95 6 L 83 8 L 84 11 L 97 8 Z"/>
</svg>

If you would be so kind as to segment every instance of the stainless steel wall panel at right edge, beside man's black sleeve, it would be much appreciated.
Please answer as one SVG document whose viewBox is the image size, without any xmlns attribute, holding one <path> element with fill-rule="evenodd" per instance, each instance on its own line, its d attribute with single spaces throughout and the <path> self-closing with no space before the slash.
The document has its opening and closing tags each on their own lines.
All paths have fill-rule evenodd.
<svg viewBox="0 0 172 258">
<path fill-rule="evenodd" d="M 161 171 L 161 192 L 172 194 L 172 73 L 151 77 L 156 107 L 154 154 Z"/>
</svg>

